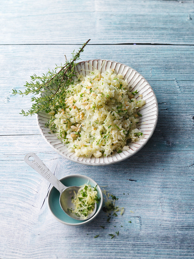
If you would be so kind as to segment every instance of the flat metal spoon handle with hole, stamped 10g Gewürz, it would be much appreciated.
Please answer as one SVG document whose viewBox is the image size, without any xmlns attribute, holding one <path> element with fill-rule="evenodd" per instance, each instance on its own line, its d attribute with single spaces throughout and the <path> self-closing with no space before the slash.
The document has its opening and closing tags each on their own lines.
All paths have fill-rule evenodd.
<svg viewBox="0 0 194 259">
<path fill-rule="evenodd" d="M 29 160 L 29 157 L 33 157 L 34 160 Z M 34 153 L 28 153 L 24 161 L 31 166 L 36 172 L 42 175 L 49 183 L 51 183 L 60 193 L 62 193 L 67 187 L 60 182 L 56 176 L 45 166 L 40 158 Z"/>
</svg>

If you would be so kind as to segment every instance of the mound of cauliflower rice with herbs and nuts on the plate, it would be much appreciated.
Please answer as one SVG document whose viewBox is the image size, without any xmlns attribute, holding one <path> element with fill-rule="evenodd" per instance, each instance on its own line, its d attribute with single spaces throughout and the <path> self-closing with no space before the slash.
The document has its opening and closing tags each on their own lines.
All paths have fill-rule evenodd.
<svg viewBox="0 0 194 259">
<path fill-rule="evenodd" d="M 137 109 L 145 100 L 136 100 L 136 93 L 111 69 L 80 75 L 61 100 L 63 108 L 54 111 L 51 107 L 50 126 L 76 156 L 100 157 L 128 150 L 128 142 L 144 138 L 136 123 L 141 116 Z"/>
</svg>

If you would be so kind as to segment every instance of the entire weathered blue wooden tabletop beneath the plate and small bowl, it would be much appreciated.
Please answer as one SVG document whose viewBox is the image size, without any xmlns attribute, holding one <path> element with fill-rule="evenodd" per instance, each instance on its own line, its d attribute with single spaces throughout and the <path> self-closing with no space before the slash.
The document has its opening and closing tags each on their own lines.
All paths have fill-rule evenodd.
<svg viewBox="0 0 194 259">
<path fill-rule="evenodd" d="M 194 258 L 193 0 L 4 0 L 0 24 L 0 258 Z M 159 104 L 150 141 L 130 159 L 95 168 L 55 153 L 35 116 L 19 114 L 30 97 L 11 94 L 89 38 L 82 60 L 131 66 Z M 124 214 L 108 223 L 101 211 L 77 228 L 59 223 L 47 207 L 49 183 L 24 162 L 29 152 L 58 178 L 85 174 L 107 186 Z"/>
</svg>

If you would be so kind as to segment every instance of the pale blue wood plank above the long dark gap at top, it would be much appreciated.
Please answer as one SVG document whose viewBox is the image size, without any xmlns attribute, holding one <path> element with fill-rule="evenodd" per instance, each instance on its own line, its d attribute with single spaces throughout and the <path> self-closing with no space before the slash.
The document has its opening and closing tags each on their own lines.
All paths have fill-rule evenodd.
<svg viewBox="0 0 194 259">
<path fill-rule="evenodd" d="M 193 1 L 1 1 L 0 44 L 194 44 Z"/>
</svg>

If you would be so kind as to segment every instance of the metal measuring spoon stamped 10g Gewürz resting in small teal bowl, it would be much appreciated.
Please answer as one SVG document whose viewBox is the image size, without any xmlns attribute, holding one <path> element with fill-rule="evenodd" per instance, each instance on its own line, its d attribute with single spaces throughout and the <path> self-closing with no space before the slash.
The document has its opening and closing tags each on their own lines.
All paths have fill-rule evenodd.
<svg viewBox="0 0 194 259">
<path fill-rule="evenodd" d="M 34 160 L 29 160 L 29 157 L 33 157 Z M 34 170 L 36 170 L 36 172 L 38 172 L 45 179 L 47 179 L 47 181 L 49 181 L 49 183 L 51 183 L 60 192 L 59 203 L 61 205 L 62 210 L 73 219 L 83 220 L 83 218 L 80 218 L 71 212 L 71 209 L 74 209 L 74 205 L 73 203 L 71 203 L 71 198 L 72 196 L 74 197 L 74 191 L 78 193 L 78 190 L 80 189 L 80 187 L 79 186 L 66 187 L 64 184 L 62 184 L 62 182 L 60 182 L 57 179 L 56 176 L 54 176 L 53 173 L 51 173 L 51 171 L 45 166 L 45 164 L 40 160 L 40 158 L 34 153 L 28 153 L 25 156 L 24 161 L 29 166 L 31 166 Z M 95 212 L 96 212 L 96 203 L 94 205 L 93 212 L 88 215 L 87 219 L 90 219 Z"/>
</svg>

